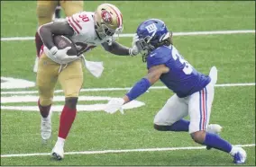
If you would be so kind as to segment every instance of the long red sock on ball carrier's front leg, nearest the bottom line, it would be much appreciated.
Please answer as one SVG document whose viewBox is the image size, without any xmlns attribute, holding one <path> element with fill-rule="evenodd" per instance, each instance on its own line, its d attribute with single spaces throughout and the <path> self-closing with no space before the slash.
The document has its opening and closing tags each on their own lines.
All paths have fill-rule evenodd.
<svg viewBox="0 0 256 167">
<path fill-rule="evenodd" d="M 59 137 L 66 139 L 69 134 L 73 121 L 77 115 L 76 109 L 69 109 L 67 105 L 64 106 L 59 120 Z"/>
</svg>

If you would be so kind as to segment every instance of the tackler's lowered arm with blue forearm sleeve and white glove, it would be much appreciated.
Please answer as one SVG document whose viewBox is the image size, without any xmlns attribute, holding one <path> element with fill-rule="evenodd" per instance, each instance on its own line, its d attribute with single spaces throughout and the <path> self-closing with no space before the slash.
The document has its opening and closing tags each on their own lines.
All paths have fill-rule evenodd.
<svg viewBox="0 0 256 167">
<path fill-rule="evenodd" d="M 160 75 L 168 73 L 169 68 L 165 65 L 151 66 L 148 70 L 148 75 L 143 77 L 139 82 L 133 85 L 133 88 L 126 93 L 123 98 L 116 98 L 109 101 L 106 105 L 105 111 L 113 114 L 117 110 L 122 111 L 123 104 L 133 101 L 144 92 L 146 92 L 152 84 L 155 84 L 159 79 Z"/>
</svg>

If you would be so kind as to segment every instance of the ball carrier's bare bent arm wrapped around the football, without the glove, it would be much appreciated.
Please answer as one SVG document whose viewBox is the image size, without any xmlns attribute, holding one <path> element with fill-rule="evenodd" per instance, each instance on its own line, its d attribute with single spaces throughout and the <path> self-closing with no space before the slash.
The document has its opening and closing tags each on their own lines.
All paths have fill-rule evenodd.
<svg viewBox="0 0 256 167">
<path fill-rule="evenodd" d="M 41 36 L 41 40 L 45 47 L 52 48 L 54 47 L 52 35 L 73 35 L 74 31 L 69 26 L 68 21 L 63 22 L 50 22 L 41 25 L 38 29 L 38 33 Z"/>
</svg>

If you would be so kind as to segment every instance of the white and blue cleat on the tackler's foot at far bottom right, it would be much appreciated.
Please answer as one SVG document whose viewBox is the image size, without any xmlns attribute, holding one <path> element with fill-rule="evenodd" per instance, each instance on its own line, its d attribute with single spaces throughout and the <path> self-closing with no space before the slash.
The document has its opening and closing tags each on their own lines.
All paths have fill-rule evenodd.
<svg viewBox="0 0 256 167">
<path fill-rule="evenodd" d="M 246 161 L 246 152 L 242 149 L 242 147 L 233 146 L 230 154 L 233 156 L 233 163 L 242 164 Z"/>
</svg>

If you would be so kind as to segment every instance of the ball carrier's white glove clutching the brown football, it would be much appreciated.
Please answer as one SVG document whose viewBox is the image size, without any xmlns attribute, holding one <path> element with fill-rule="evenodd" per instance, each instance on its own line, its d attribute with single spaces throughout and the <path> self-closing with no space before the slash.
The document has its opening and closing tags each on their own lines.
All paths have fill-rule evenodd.
<svg viewBox="0 0 256 167">
<path fill-rule="evenodd" d="M 43 47 L 43 51 L 45 54 L 50 57 L 53 61 L 59 63 L 59 64 L 68 64 L 76 59 L 78 59 L 78 56 L 69 56 L 67 55 L 68 50 L 71 47 L 63 48 L 63 49 L 58 49 L 57 47 L 52 47 L 52 48 L 47 48 Z"/>
</svg>

